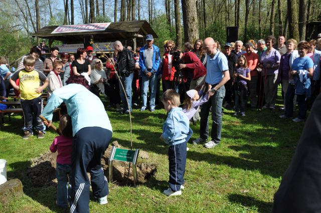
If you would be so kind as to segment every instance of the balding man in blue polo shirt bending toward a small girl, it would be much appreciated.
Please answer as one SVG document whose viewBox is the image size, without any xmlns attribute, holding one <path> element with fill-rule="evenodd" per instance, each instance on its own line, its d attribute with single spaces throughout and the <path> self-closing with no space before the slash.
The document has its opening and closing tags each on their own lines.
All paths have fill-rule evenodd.
<svg viewBox="0 0 321 213">
<path fill-rule="evenodd" d="M 195 89 L 200 89 L 204 83 L 212 85 L 214 95 L 202 105 L 200 138 L 193 141 L 194 144 L 206 141 L 209 137 L 209 113 L 212 107 L 212 139 L 205 143 L 206 148 L 213 148 L 221 142 L 222 133 L 222 103 L 225 96 L 224 84 L 230 79 L 229 67 L 226 56 L 214 46 L 214 39 L 209 37 L 204 40 L 203 46 L 207 52 L 207 75 Z M 212 92 L 213 92 L 212 90 Z"/>
</svg>

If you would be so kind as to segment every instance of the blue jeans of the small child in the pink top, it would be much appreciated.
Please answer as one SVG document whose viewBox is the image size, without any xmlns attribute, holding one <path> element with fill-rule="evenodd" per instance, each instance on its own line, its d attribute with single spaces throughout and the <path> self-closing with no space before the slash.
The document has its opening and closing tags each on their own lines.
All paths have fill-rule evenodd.
<svg viewBox="0 0 321 213">
<path fill-rule="evenodd" d="M 57 163 L 57 205 L 66 208 L 70 201 L 71 165 Z M 68 178 L 69 177 L 69 178 Z"/>
</svg>

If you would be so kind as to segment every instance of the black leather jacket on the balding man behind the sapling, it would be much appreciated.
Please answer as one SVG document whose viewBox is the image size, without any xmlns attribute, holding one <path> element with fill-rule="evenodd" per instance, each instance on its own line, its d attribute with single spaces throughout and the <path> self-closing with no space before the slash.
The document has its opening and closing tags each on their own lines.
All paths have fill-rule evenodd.
<svg viewBox="0 0 321 213">
<path fill-rule="evenodd" d="M 118 59 L 116 64 L 116 70 L 121 76 L 128 77 L 134 72 L 135 61 L 134 56 L 130 50 L 124 48 L 118 53 Z"/>
</svg>

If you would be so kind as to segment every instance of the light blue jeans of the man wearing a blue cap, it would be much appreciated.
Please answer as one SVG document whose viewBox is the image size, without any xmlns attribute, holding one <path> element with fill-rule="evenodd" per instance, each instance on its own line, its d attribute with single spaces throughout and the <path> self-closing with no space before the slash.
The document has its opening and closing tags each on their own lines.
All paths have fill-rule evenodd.
<svg viewBox="0 0 321 213">
<path fill-rule="evenodd" d="M 142 100 L 142 106 L 144 107 L 146 107 L 147 105 L 147 92 L 148 92 L 148 85 L 150 84 L 150 101 L 149 101 L 150 109 L 155 108 L 157 77 L 158 75 L 152 75 L 149 78 L 146 76 L 142 76 L 141 78 L 141 81 L 142 81 L 141 100 Z"/>
</svg>

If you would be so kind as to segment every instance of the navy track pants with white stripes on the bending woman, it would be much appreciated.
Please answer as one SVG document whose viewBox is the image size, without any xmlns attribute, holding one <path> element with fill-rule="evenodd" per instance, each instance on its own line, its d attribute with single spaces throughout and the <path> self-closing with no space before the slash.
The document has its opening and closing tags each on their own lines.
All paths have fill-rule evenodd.
<svg viewBox="0 0 321 213">
<path fill-rule="evenodd" d="M 95 197 L 104 197 L 109 193 L 100 159 L 111 136 L 110 130 L 101 127 L 85 127 L 75 134 L 71 154 L 71 213 L 89 212 L 90 182 Z M 90 172 L 90 182 L 87 170 Z"/>
</svg>

